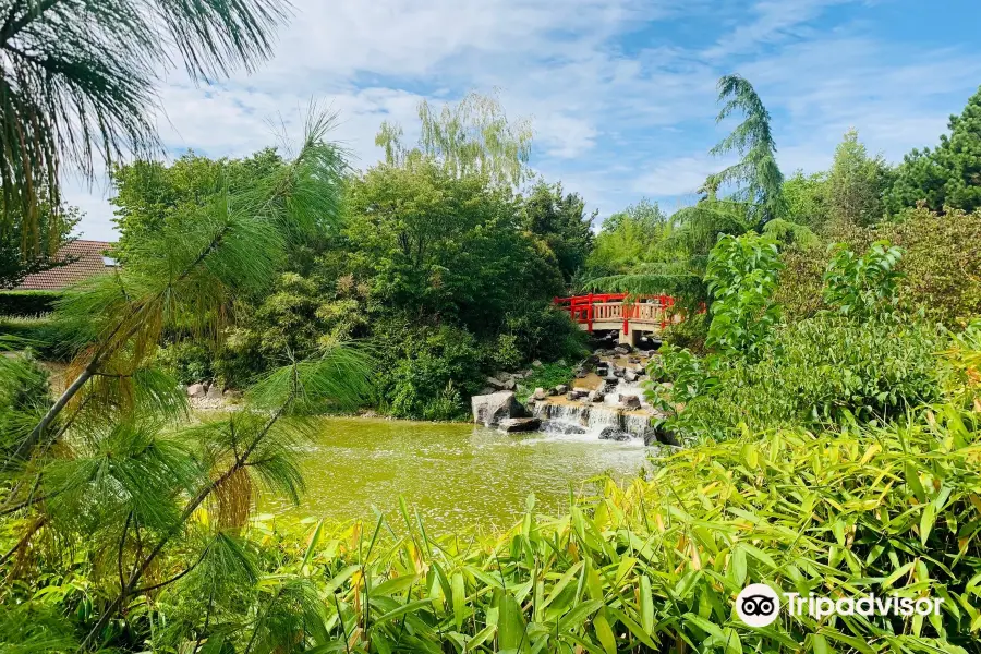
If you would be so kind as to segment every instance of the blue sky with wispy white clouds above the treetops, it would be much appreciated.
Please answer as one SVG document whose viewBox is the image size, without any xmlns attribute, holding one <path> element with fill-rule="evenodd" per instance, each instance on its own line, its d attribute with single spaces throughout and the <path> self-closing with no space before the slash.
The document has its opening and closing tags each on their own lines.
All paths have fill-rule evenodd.
<svg viewBox="0 0 981 654">
<path fill-rule="evenodd" d="M 334 137 L 366 168 L 383 120 L 411 141 L 415 107 L 498 88 L 530 117 L 532 165 L 601 216 L 642 197 L 692 202 L 726 161 L 707 152 L 715 82 L 746 76 L 773 116 L 779 162 L 826 168 L 853 126 L 898 161 L 933 145 L 981 85 L 976 0 L 294 0 L 276 56 L 211 87 L 161 71 L 157 122 L 169 156 L 242 156 L 299 135 L 312 98 L 339 113 Z M 70 180 L 85 238 L 112 239 L 112 190 Z"/>
</svg>

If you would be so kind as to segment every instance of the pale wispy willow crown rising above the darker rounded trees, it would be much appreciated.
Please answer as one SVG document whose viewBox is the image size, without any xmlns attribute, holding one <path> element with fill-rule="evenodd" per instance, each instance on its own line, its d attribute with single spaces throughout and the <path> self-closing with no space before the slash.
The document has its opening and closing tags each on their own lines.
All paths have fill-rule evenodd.
<svg viewBox="0 0 981 654">
<path fill-rule="evenodd" d="M 497 94 L 469 93 L 457 105 L 437 112 L 428 101 L 419 104 L 420 138 L 408 147 L 401 125 L 385 121 L 375 145 L 385 149 L 392 166 L 413 156 L 440 161 L 457 177 L 482 173 L 495 184 L 518 186 L 529 179 L 532 128 L 529 119 L 509 120 Z"/>
</svg>

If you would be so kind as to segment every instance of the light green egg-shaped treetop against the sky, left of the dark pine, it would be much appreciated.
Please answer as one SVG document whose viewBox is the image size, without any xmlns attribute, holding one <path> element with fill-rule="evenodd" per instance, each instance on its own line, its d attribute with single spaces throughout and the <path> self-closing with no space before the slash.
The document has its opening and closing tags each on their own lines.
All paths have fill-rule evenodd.
<svg viewBox="0 0 981 654">
<path fill-rule="evenodd" d="M 835 150 L 827 175 L 827 202 L 834 219 L 869 226 L 882 220 L 888 167 L 882 155 L 869 157 L 858 132 L 849 130 Z"/>
</svg>

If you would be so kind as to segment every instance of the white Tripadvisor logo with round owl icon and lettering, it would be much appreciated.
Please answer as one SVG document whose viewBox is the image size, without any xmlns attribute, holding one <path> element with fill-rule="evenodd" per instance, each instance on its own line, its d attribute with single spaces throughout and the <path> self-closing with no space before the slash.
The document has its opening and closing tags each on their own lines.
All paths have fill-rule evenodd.
<svg viewBox="0 0 981 654">
<path fill-rule="evenodd" d="M 876 596 L 872 593 L 858 597 L 832 600 L 821 595 L 784 593 L 780 595 L 765 583 L 752 583 L 736 596 L 736 614 L 749 627 L 767 627 L 779 616 L 780 605 L 786 604 L 791 616 L 809 615 L 818 620 L 838 616 L 900 616 L 940 615 L 943 597 Z"/>
</svg>

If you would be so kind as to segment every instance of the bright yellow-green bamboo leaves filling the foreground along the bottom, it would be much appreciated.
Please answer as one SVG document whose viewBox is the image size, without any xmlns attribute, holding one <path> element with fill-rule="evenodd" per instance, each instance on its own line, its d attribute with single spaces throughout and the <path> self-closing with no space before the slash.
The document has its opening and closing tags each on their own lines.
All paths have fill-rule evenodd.
<svg viewBox="0 0 981 654">
<path fill-rule="evenodd" d="M 977 651 L 978 421 L 937 407 L 891 427 L 697 446 L 649 480 L 598 480 L 565 516 L 530 498 L 491 540 L 434 536 L 404 504 L 299 531 L 259 517 L 252 586 L 217 602 L 181 581 L 146 615 L 168 614 L 167 646 L 263 653 Z M 751 629 L 734 600 L 754 582 L 944 603 L 929 618 L 785 613 Z M 241 602 L 254 619 L 235 617 Z"/>
</svg>

